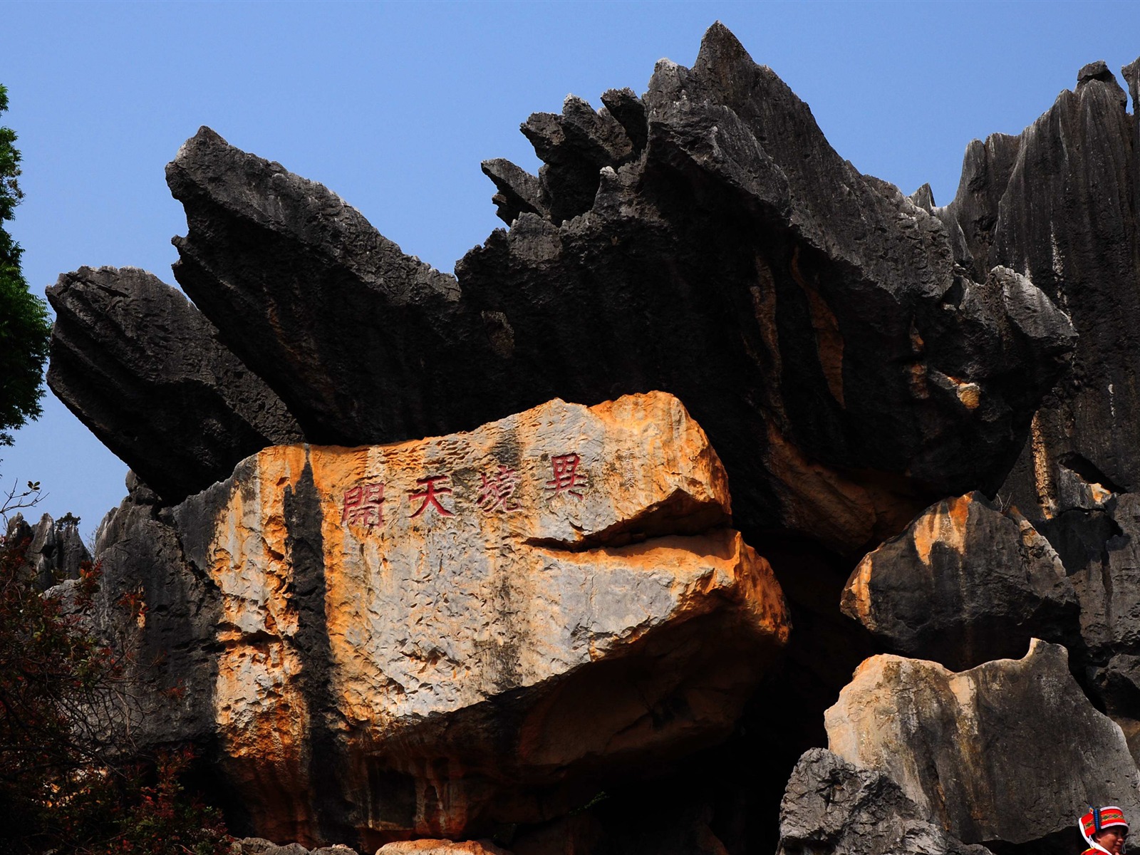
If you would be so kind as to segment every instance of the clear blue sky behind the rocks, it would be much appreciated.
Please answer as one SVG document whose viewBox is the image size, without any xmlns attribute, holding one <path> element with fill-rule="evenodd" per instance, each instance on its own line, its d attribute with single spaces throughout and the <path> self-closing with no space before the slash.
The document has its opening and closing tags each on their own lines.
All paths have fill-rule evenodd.
<svg viewBox="0 0 1140 855">
<path fill-rule="evenodd" d="M 25 275 L 38 294 L 82 264 L 173 284 L 186 223 L 163 166 L 202 124 L 451 270 L 502 225 L 479 162 L 537 166 L 520 122 L 569 92 L 644 91 L 657 59 L 691 65 L 716 19 L 856 168 L 906 193 L 929 181 L 940 204 L 970 139 L 1020 132 L 1084 63 L 1117 73 L 1140 55 L 1133 2 L 6 2 Z M 41 481 L 41 508 L 90 534 L 127 467 L 44 404 L 0 448 L 0 478 Z"/>
</svg>

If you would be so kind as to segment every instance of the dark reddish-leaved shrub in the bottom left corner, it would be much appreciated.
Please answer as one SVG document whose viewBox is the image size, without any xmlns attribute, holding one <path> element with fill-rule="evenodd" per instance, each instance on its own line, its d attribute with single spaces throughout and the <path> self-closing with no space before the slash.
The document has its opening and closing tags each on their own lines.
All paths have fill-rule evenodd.
<svg viewBox="0 0 1140 855">
<path fill-rule="evenodd" d="M 228 852 L 218 812 L 182 789 L 189 751 L 142 758 L 108 738 L 145 686 L 84 628 L 99 567 L 44 595 L 27 545 L 0 537 L 0 853 Z M 119 605 L 123 619 L 138 608 Z"/>
</svg>

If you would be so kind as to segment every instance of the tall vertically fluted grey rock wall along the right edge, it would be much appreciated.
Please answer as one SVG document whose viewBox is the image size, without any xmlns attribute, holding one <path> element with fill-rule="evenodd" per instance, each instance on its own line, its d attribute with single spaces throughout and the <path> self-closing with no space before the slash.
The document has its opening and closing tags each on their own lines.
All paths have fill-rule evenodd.
<svg viewBox="0 0 1140 855">
<path fill-rule="evenodd" d="M 1123 70 L 1133 99 L 1138 70 Z M 1081 334 L 997 496 L 1061 557 L 1081 601 L 1089 687 L 1126 727 L 1140 719 L 1138 130 L 1116 79 L 1090 63 L 1019 137 L 971 144 L 958 196 L 935 210 L 960 263 L 1026 272 Z"/>
</svg>

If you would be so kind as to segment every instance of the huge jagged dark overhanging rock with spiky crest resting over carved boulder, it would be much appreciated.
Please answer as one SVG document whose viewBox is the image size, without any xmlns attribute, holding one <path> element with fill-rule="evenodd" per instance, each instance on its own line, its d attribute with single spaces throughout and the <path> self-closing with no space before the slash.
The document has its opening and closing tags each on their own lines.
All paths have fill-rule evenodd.
<svg viewBox="0 0 1140 855">
<path fill-rule="evenodd" d="M 512 227 L 458 282 L 203 129 L 168 169 L 176 276 L 310 441 L 662 389 L 712 437 L 739 524 L 846 553 L 997 484 L 1072 347 L 1034 285 L 960 275 L 942 221 L 840 158 L 720 25 L 692 70 L 603 101 L 530 116 L 537 178 L 484 164 Z"/>
</svg>

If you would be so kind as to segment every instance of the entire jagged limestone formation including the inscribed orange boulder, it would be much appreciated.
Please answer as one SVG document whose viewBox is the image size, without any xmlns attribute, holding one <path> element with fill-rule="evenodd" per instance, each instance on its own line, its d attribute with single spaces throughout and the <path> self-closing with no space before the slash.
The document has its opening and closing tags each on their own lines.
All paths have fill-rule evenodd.
<svg viewBox="0 0 1140 855">
<path fill-rule="evenodd" d="M 1134 812 L 1140 170 L 1107 68 L 972 145 L 945 207 L 719 25 L 602 103 L 527 120 L 537 176 L 482 164 L 508 228 L 454 277 L 203 129 L 168 168 L 196 309 L 141 271 L 56 288 L 54 385 L 153 488 L 99 537 L 99 619 L 147 605 L 112 633 L 155 662 L 136 736 L 304 846 L 771 852 L 880 547 L 847 611 L 984 663 L 871 659 L 826 722 L 869 768 L 807 756 L 783 850 L 1045 853 L 1073 805 Z M 1031 635 L 1124 731 L 1060 649 L 985 661 Z"/>
</svg>

